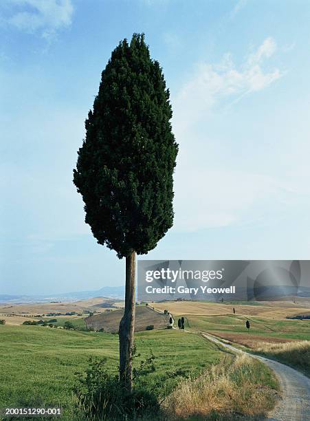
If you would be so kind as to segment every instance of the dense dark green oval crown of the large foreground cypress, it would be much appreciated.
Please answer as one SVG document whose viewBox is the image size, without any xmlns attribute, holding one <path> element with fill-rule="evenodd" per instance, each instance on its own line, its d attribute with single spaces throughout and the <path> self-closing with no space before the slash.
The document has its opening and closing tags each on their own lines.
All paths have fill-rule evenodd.
<svg viewBox="0 0 310 421">
<path fill-rule="evenodd" d="M 147 253 L 173 225 L 177 143 L 169 91 L 144 35 L 112 52 L 85 122 L 74 184 L 85 222 L 118 257 Z"/>
</svg>

